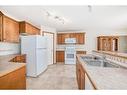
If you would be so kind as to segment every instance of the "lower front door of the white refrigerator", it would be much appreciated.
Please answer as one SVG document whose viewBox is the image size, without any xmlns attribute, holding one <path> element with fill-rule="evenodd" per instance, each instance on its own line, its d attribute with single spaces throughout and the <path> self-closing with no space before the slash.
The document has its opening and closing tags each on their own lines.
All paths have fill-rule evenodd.
<svg viewBox="0 0 127 95">
<path fill-rule="evenodd" d="M 41 74 L 47 68 L 46 49 L 39 48 L 36 50 L 37 75 Z"/>
</svg>

